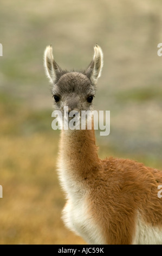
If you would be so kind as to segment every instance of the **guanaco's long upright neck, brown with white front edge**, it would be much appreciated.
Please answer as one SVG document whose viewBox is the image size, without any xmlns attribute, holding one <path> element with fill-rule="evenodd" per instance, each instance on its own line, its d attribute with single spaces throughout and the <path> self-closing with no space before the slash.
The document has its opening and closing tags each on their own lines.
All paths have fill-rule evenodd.
<svg viewBox="0 0 162 256">
<path fill-rule="evenodd" d="M 94 130 L 62 130 L 59 167 L 61 179 L 67 183 L 82 182 L 98 170 L 98 149 Z"/>
</svg>

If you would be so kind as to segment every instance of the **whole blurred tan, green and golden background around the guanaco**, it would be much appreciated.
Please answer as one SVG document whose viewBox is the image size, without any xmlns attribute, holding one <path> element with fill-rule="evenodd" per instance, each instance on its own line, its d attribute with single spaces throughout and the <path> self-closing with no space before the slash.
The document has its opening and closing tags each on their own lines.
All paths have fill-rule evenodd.
<svg viewBox="0 0 162 256">
<path fill-rule="evenodd" d="M 56 174 L 59 131 L 43 52 L 63 69 L 85 69 L 104 53 L 95 109 L 111 111 L 111 133 L 96 131 L 99 155 L 162 169 L 162 2 L 11 1 L 0 9 L 0 243 L 84 244 L 61 220 Z"/>
</svg>

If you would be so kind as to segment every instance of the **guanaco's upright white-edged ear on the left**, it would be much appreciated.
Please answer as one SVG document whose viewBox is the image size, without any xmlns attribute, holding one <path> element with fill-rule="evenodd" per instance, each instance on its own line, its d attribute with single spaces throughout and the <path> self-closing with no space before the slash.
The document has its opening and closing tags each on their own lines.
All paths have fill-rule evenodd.
<svg viewBox="0 0 162 256">
<path fill-rule="evenodd" d="M 47 46 L 44 51 L 44 68 L 51 83 L 56 81 L 57 76 L 61 72 L 61 68 L 54 60 L 53 57 L 53 47 Z"/>
</svg>

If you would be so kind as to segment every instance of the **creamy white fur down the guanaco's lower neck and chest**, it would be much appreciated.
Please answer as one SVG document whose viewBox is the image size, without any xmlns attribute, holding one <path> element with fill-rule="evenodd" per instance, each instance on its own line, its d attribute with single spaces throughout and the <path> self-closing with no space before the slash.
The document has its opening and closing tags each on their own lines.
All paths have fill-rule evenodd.
<svg viewBox="0 0 162 256">
<path fill-rule="evenodd" d="M 70 175 L 68 167 L 62 160 L 59 164 L 59 176 L 63 190 L 67 193 L 67 203 L 62 211 L 62 219 L 66 226 L 90 244 L 105 243 L 100 228 L 88 215 L 88 191 Z"/>
</svg>

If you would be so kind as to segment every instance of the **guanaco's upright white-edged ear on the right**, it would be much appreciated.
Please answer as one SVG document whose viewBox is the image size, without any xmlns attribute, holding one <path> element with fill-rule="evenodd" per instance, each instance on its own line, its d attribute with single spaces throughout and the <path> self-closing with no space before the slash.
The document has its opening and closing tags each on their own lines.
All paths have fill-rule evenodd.
<svg viewBox="0 0 162 256">
<path fill-rule="evenodd" d="M 103 52 L 99 45 L 95 45 L 94 47 L 94 56 L 93 60 L 88 66 L 86 70 L 86 75 L 90 78 L 90 80 L 96 84 L 98 78 L 101 76 L 101 71 L 103 67 Z"/>
</svg>

